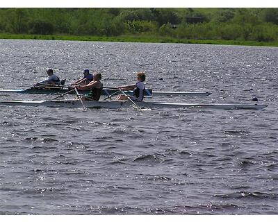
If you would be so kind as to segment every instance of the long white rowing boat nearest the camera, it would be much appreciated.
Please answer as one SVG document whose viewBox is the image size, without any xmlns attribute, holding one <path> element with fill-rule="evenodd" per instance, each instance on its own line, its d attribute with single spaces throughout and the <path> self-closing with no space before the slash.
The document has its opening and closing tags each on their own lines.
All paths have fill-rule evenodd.
<svg viewBox="0 0 278 222">
<path fill-rule="evenodd" d="M 133 105 L 130 101 L 83 101 L 86 108 L 128 108 Z M 198 108 L 198 109 L 221 109 L 221 110 L 261 110 L 268 105 L 257 104 L 216 104 L 216 103 L 164 103 L 154 101 L 136 102 L 140 108 Z M 82 108 L 79 100 L 46 100 L 46 101 L 0 101 L 0 105 L 27 105 L 47 107 Z"/>
</svg>

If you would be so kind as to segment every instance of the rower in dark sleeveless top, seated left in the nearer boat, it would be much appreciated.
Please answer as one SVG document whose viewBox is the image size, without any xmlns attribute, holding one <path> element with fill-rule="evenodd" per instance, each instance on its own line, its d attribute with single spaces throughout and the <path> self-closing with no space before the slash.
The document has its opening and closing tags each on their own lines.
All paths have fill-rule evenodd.
<svg viewBox="0 0 278 222">
<path fill-rule="evenodd" d="M 100 80 L 101 74 L 95 74 L 93 80 L 89 84 L 76 86 L 76 88 L 80 90 L 90 89 L 89 94 L 81 97 L 82 100 L 99 101 L 102 92 L 102 83 Z"/>
</svg>

